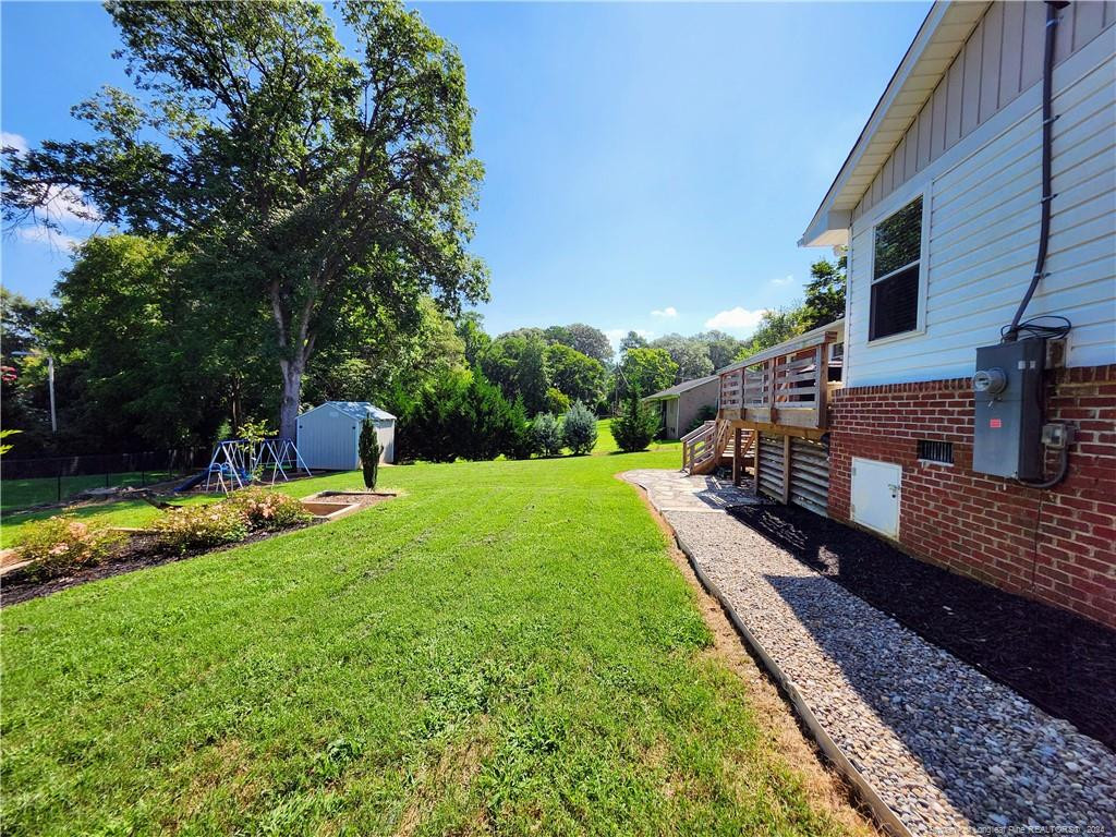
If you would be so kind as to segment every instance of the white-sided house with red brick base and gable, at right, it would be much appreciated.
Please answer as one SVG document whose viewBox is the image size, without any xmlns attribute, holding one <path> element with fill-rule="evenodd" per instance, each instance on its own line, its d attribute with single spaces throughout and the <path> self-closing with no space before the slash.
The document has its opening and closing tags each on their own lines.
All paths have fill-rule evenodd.
<svg viewBox="0 0 1116 837">
<path fill-rule="evenodd" d="M 936 3 L 800 242 L 849 248 L 828 513 L 1116 626 L 1116 4 L 1054 12 L 1049 143 L 1047 15 Z"/>
</svg>

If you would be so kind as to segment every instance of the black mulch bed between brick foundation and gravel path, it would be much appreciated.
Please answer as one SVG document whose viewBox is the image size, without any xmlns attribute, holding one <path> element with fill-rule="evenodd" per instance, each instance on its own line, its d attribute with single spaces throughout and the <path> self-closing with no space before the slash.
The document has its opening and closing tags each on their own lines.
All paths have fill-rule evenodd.
<svg viewBox="0 0 1116 837">
<path fill-rule="evenodd" d="M 1116 632 L 924 564 L 806 509 L 729 511 L 923 638 L 1116 750 Z"/>
</svg>

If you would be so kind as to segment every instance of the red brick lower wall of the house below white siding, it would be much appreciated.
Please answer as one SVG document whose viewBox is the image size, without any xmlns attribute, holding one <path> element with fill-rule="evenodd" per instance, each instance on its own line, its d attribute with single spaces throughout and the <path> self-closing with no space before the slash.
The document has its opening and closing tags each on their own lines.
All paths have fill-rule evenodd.
<svg viewBox="0 0 1116 837">
<path fill-rule="evenodd" d="M 1077 439 L 1067 479 L 1039 491 L 971 471 L 970 378 L 838 391 L 829 514 L 849 519 L 853 456 L 902 464 L 912 555 L 1116 627 L 1116 366 L 1052 373 L 1046 420 L 1075 424 Z M 920 439 L 952 442 L 954 464 L 918 461 Z"/>
</svg>

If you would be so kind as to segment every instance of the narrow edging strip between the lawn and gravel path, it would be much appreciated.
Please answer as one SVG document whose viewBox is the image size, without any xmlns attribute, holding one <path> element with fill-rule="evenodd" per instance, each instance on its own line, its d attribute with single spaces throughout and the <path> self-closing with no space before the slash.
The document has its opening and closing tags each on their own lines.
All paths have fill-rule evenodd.
<svg viewBox="0 0 1116 837">
<path fill-rule="evenodd" d="M 662 516 L 663 520 L 667 526 L 671 522 L 666 520 L 665 516 Z M 729 614 L 729 619 L 732 622 L 737 632 L 743 637 L 748 647 L 760 658 L 763 667 L 767 670 L 768 674 L 775 679 L 779 689 L 790 701 L 790 705 L 795 710 L 795 714 L 798 715 L 799 720 L 806 724 L 807 730 L 810 732 L 810 737 L 815 740 L 821 752 L 826 754 L 826 758 L 837 768 L 837 771 L 853 786 L 857 796 L 860 800 L 868 807 L 872 811 L 873 818 L 879 826 L 893 835 L 894 837 L 913 837 L 910 829 L 903 825 L 903 821 L 896 816 L 887 804 L 879 798 L 876 793 L 875 788 L 864 778 L 864 775 L 853 766 L 853 762 L 845 754 L 845 752 L 837 745 L 837 742 L 830 738 L 829 733 L 825 731 L 821 722 L 818 721 L 817 716 L 810 710 L 806 700 L 802 698 L 801 692 L 798 691 L 798 686 L 795 685 L 795 681 L 786 675 L 782 668 L 775 658 L 768 654 L 767 648 L 756 638 L 756 635 L 748 629 L 744 625 L 743 619 L 737 614 L 735 609 L 729 603 L 729 599 L 721 593 L 720 588 L 709 576 L 702 571 L 702 568 L 698 565 L 698 560 L 694 558 L 693 551 L 686 542 L 679 536 L 674 527 L 671 526 L 671 531 L 674 533 L 674 541 L 679 545 L 679 549 L 686 556 L 686 560 L 690 561 L 690 566 L 698 576 L 698 580 L 701 581 L 702 587 L 715 598 L 721 607 L 724 608 L 725 613 Z"/>
</svg>

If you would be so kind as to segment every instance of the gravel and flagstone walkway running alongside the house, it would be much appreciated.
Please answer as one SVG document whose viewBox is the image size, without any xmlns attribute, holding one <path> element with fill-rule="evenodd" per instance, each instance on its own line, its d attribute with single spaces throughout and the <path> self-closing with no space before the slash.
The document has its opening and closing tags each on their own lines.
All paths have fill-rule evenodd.
<svg viewBox="0 0 1116 837">
<path fill-rule="evenodd" d="M 826 732 L 915 835 L 1116 834 L 1116 756 L 724 513 L 762 502 L 631 471 Z M 1010 642 L 1010 637 L 1004 637 Z"/>
</svg>

